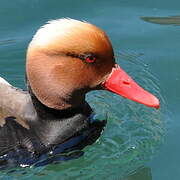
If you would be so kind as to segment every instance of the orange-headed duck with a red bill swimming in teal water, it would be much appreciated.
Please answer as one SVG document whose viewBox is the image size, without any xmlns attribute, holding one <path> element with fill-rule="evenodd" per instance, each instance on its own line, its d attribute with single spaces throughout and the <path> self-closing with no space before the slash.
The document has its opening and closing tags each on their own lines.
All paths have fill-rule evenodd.
<svg viewBox="0 0 180 180">
<path fill-rule="evenodd" d="M 0 165 L 12 166 L 12 159 L 32 165 L 44 154 L 93 144 L 106 121 L 92 120 L 85 99 L 90 91 L 160 107 L 158 98 L 116 63 L 107 34 L 86 21 L 61 18 L 40 27 L 27 48 L 25 76 L 27 90 L 0 78 Z"/>
</svg>

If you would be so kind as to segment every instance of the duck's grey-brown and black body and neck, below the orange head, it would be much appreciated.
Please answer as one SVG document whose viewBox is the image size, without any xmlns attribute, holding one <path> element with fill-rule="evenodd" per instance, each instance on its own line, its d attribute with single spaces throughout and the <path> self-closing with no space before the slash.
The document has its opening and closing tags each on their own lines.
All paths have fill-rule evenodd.
<svg viewBox="0 0 180 180">
<path fill-rule="evenodd" d="M 0 81 L 0 166 L 39 165 L 42 154 L 81 150 L 100 136 L 106 122 L 93 121 L 87 102 L 59 111 L 44 106 L 29 92 Z M 46 163 L 44 159 L 41 165 Z"/>
</svg>

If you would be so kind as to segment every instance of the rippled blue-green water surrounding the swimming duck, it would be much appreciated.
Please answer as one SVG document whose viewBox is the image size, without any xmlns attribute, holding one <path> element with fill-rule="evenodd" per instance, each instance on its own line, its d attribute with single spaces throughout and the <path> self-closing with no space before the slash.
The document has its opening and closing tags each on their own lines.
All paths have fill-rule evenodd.
<svg viewBox="0 0 180 180">
<path fill-rule="evenodd" d="M 162 108 L 152 110 L 110 93 L 93 92 L 88 100 L 98 119 L 108 118 L 108 125 L 99 141 L 85 148 L 83 157 L 3 171 L 0 178 L 180 179 L 180 27 L 167 19 L 162 23 L 159 18 L 156 24 L 144 21 L 178 16 L 179 7 L 177 0 L 1 0 L 0 76 L 14 86 L 25 88 L 26 48 L 37 28 L 51 19 L 71 17 L 103 28 L 112 40 L 117 62 L 161 98 Z"/>
</svg>

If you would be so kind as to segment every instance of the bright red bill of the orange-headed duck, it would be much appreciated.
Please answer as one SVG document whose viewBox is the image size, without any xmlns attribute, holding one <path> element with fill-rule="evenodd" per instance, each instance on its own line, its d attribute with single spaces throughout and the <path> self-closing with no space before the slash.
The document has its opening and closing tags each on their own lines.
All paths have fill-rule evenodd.
<svg viewBox="0 0 180 180">
<path fill-rule="evenodd" d="M 124 70 L 116 65 L 103 83 L 106 90 L 149 107 L 159 108 L 159 100 L 140 87 Z"/>
</svg>

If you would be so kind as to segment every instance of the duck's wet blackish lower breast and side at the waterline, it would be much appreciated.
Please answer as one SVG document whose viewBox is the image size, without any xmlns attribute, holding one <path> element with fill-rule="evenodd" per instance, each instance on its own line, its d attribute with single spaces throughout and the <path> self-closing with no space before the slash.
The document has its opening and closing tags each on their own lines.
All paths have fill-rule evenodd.
<svg viewBox="0 0 180 180">
<path fill-rule="evenodd" d="M 7 117 L 5 122 L 0 128 L 0 169 L 42 166 L 78 158 L 83 155 L 81 150 L 85 146 L 93 144 L 99 138 L 106 124 L 106 121 L 89 119 L 88 127 L 75 132 L 63 142 L 60 134 L 55 136 L 53 143 L 44 145 L 42 137 L 33 128 L 24 128 L 17 123 L 15 117 Z"/>
</svg>

